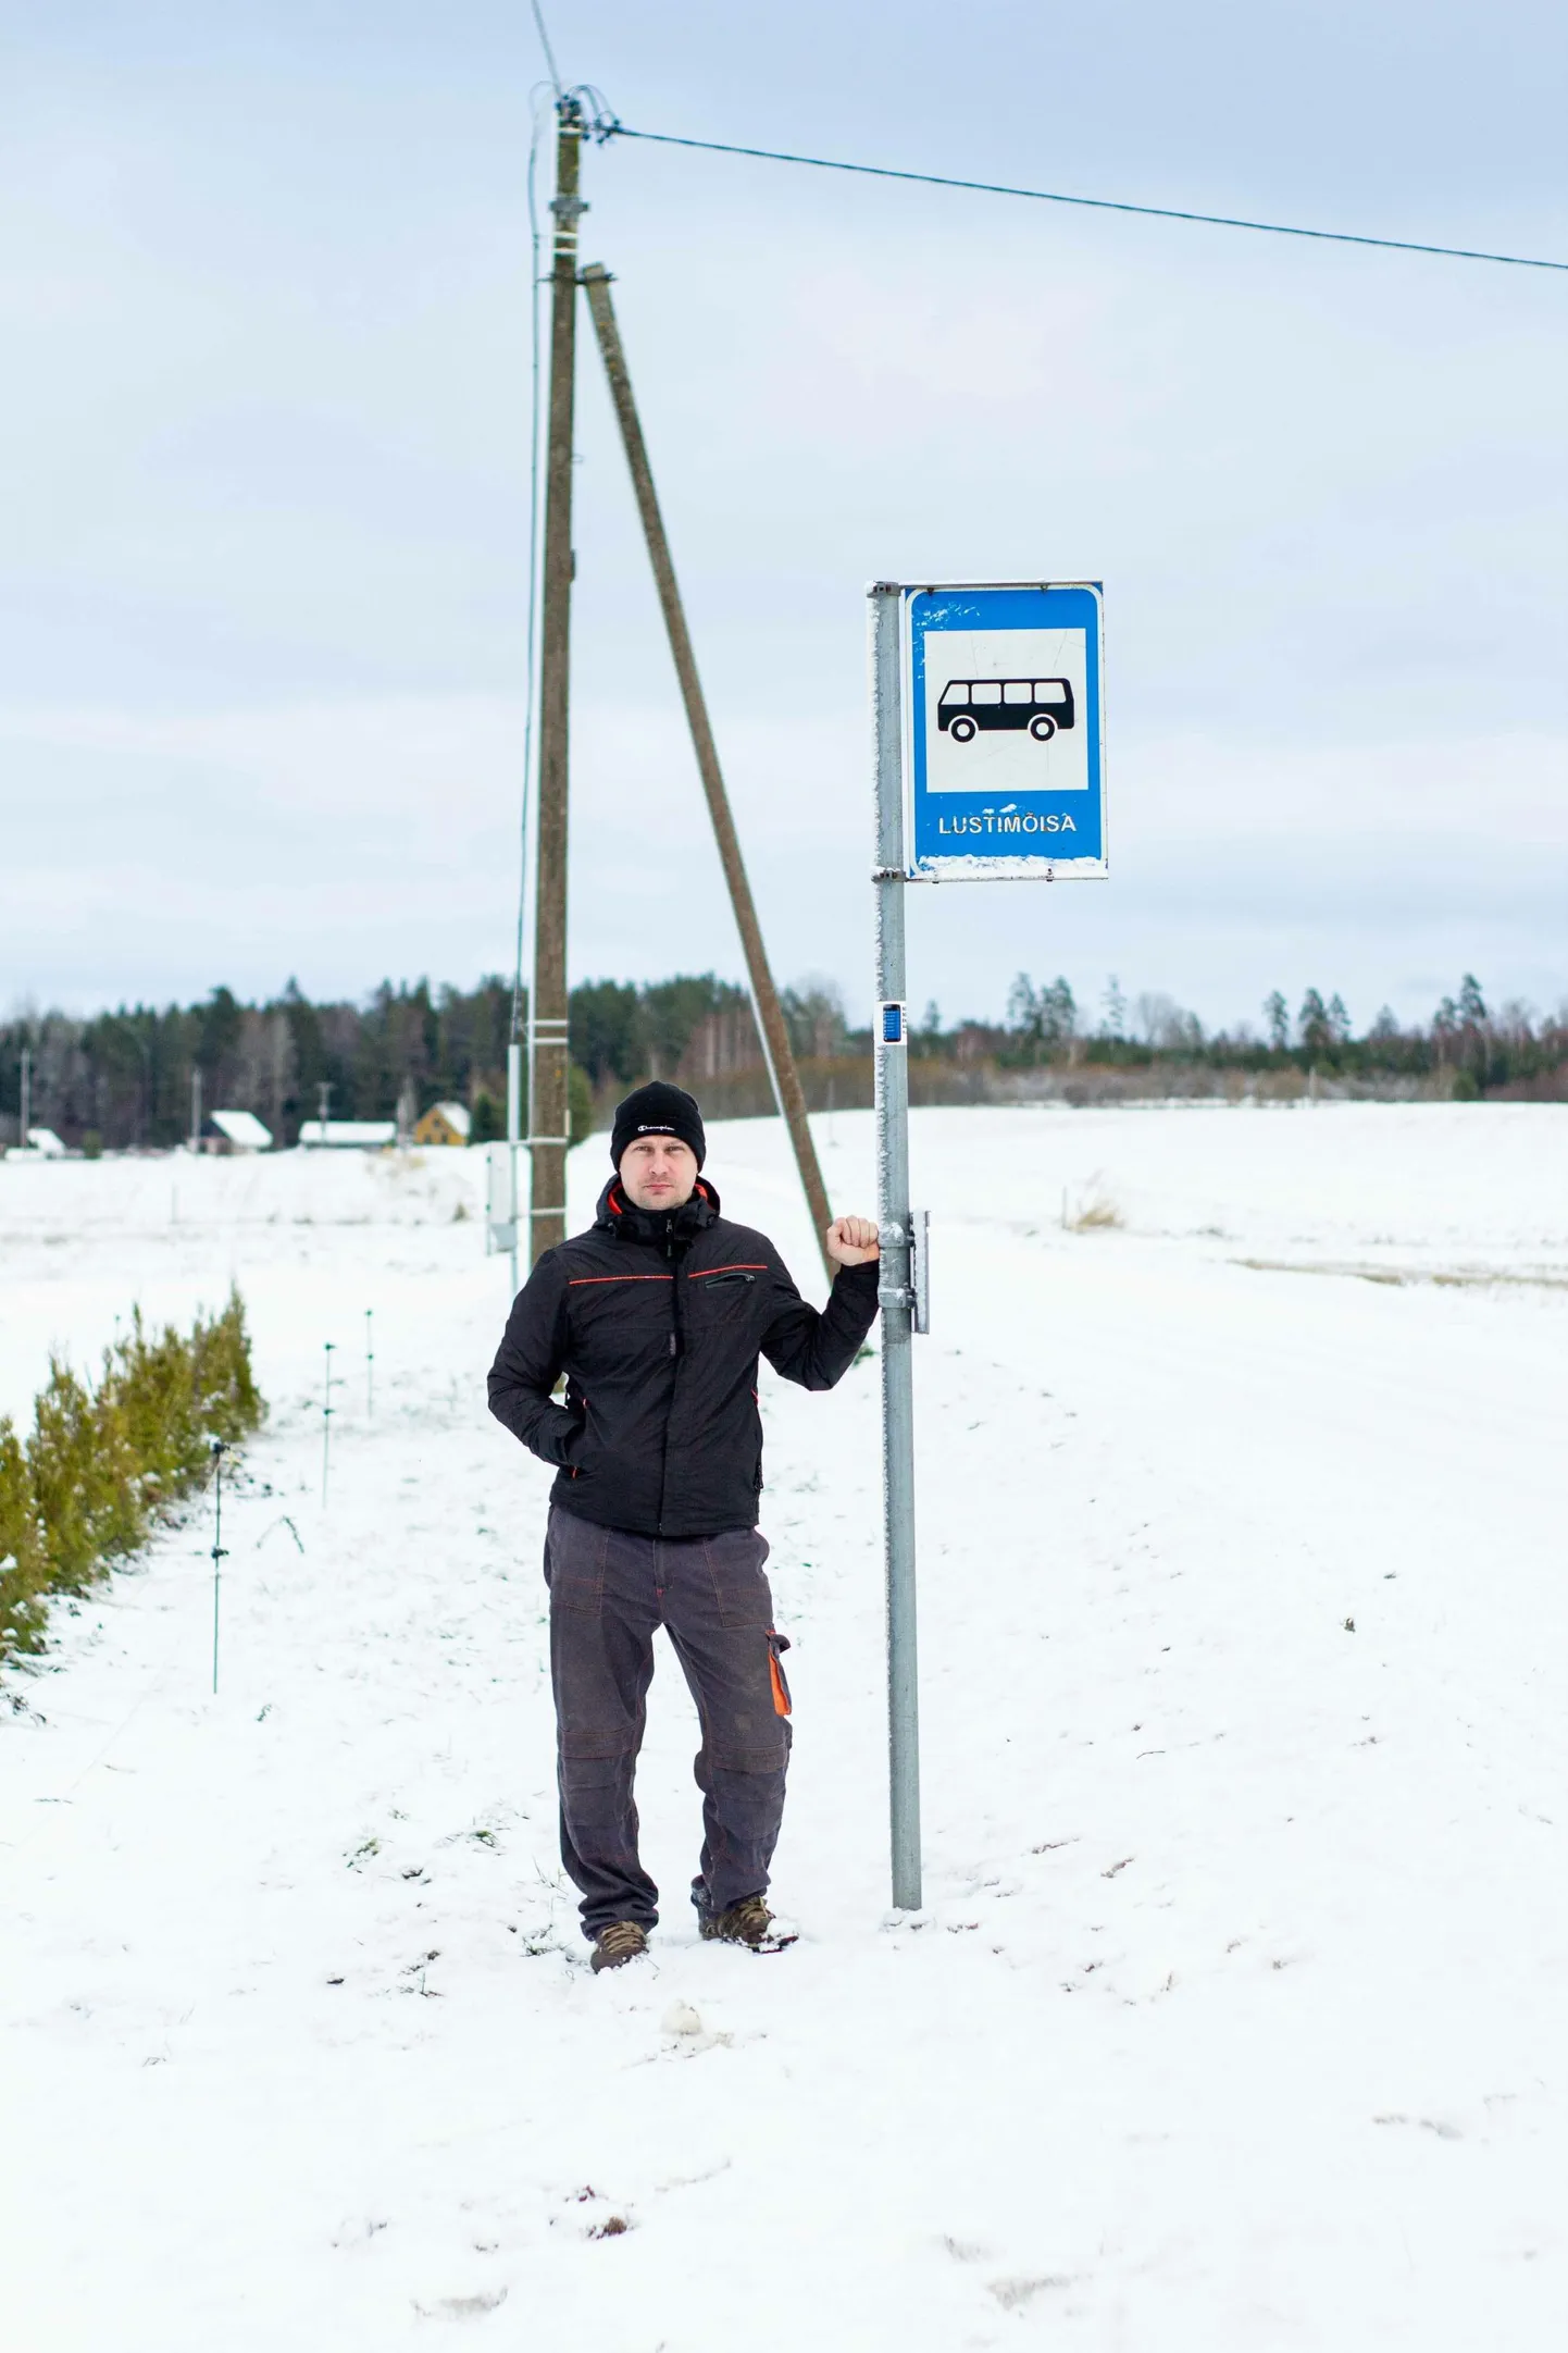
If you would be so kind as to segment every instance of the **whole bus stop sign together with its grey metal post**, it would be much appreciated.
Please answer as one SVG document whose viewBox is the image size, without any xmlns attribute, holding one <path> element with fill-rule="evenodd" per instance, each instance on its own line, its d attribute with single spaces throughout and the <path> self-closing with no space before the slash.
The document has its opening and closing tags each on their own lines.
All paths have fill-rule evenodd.
<svg viewBox="0 0 1568 2353">
<path fill-rule="evenodd" d="M 893 1904 L 919 1911 L 914 1386 L 926 1219 L 910 1207 L 905 882 L 1103 880 L 1100 588 L 877 581 L 877 1231 Z"/>
</svg>

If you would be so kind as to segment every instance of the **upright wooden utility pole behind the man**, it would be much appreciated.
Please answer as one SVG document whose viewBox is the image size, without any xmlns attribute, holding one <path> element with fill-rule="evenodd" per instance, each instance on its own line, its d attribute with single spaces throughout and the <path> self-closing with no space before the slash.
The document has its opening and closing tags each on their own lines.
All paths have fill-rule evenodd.
<svg viewBox="0 0 1568 2353">
<path fill-rule="evenodd" d="M 538 659 L 538 854 L 529 995 L 529 1266 L 567 1240 L 567 704 L 571 673 L 571 414 L 576 376 L 576 224 L 583 108 L 557 106 L 545 569 Z"/>
</svg>

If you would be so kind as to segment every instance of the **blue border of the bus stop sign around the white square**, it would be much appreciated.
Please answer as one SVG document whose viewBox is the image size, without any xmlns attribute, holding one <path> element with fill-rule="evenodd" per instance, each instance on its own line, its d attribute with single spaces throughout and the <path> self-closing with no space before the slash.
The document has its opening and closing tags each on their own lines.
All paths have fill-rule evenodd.
<svg viewBox="0 0 1568 2353">
<path fill-rule="evenodd" d="M 910 875 L 926 880 L 1105 875 L 1103 591 L 1100 581 L 1006 588 L 905 588 L 905 708 L 910 746 Z M 926 791 L 926 631 L 1081 628 L 1086 647 L 1088 791 Z M 1063 816 L 1072 831 L 1063 833 Z M 1006 824 L 1004 824 L 1006 819 Z M 954 821 L 961 831 L 954 835 Z M 938 831 L 940 828 L 940 831 Z M 961 845 L 961 847 L 959 847 Z"/>
</svg>

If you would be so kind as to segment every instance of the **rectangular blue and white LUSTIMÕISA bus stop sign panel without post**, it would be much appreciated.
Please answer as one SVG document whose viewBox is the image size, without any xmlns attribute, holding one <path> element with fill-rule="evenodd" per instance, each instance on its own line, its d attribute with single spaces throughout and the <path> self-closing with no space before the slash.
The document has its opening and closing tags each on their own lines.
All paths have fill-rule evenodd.
<svg viewBox="0 0 1568 2353">
<path fill-rule="evenodd" d="M 912 882 L 1105 878 L 1100 584 L 903 588 Z"/>
</svg>

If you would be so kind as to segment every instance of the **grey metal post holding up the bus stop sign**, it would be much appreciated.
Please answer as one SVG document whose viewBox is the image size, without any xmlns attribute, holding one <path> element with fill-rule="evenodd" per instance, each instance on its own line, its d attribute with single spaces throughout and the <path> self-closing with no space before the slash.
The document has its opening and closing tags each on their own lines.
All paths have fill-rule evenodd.
<svg viewBox="0 0 1568 2353">
<path fill-rule="evenodd" d="M 893 1904 L 919 1911 L 919 1668 L 914 1640 L 914 1384 L 910 1341 L 910 1021 L 905 1009 L 905 840 L 900 593 L 872 607 L 872 760 L 877 798 L 877 1228 L 882 1245 L 882 1492 L 889 1621 L 889 1828 Z"/>
</svg>

